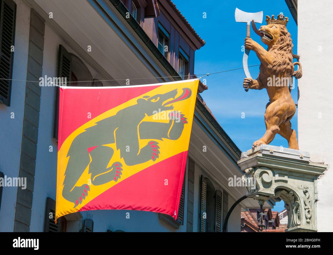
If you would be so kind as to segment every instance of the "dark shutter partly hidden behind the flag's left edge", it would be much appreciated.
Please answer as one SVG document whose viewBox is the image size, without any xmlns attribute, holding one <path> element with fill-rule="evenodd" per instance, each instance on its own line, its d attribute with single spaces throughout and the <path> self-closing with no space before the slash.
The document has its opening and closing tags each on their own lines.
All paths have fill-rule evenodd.
<svg viewBox="0 0 333 255">
<path fill-rule="evenodd" d="M 67 82 L 71 81 L 72 76 L 72 57 L 65 49 L 64 46 L 59 45 L 58 56 L 58 78 L 63 77 L 67 79 Z M 56 112 L 54 118 L 54 130 L 53 138 L 58 140 L 58 128 L 59 128 L 59 87 L 57 87 L 56 95 Z"/>
</svg>

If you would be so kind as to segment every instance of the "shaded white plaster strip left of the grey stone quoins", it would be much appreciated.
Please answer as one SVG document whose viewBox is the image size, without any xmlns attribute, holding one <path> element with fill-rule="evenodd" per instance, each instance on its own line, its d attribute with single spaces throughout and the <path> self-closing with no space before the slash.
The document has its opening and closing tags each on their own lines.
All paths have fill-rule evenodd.
<svg viewBox="0 0 333 255">
<path fill-rule="evenodd" d="M 17 4 L 13 79 L 26 80 L 29 45 L 30 9 L 21 0 Z M 18 177 L 25 82 L 13 81 L 10 107 L 0 104 L 0 171 Z M 15 118 L 11 118 L 11 113 Z M 17 187 L 4 187 L 0 210 L 0 232 L 13 231 Z"/>
</svg>

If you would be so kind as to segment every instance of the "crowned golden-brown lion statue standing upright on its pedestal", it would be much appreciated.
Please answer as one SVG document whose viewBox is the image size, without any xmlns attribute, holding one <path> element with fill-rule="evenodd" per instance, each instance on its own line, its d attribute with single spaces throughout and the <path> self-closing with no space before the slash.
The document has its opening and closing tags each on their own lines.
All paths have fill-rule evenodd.
<svg viewBox="0 0 333 255">
<path fill-rule="evenodd" d="M 257 79 L 245 78 L 244 88 L 267 89 L 269 102 L 266 105 L 265 124 L 266 133 L 262 138 L 253 143 L 252 148 L 272 142 L 276 134 L 287 139 L 289 148 L 298 150 L 298 142 L 295 130 L 291 129 L 290 119 L 296 112 L 295 103 L 291 97 L 292 77 L 302 77 L 302 67 L 299 62 L 292 62 L 293 44 L 290 33 L 287 30 L 288 18 L 283 14 L 278 19 L 266 16 L 266 26 L 258 30 L 261 41 L 268 46 L 265 50 L 251 38 L 245 38 L 245 48 L 253 50 L 261 64 Z M 294 66 L 298 65 L 297 71 Z"/>
</svg>

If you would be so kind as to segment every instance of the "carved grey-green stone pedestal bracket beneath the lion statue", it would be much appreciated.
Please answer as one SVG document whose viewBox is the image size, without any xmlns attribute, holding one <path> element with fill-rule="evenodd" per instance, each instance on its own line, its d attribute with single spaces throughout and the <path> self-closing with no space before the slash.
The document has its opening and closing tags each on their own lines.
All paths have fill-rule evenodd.
<svg viewBox="0 0 333 255">
<path fill-rule="evenodd" d="M 242 179 L 254 179 L 247 196 L 259 203 L 274 197 L 283 200 L 288 212 L 287 232 L 316 232 L 317 179 L 328 166 L 310 161 L 310 153 L 261 145 L 243 152 L 238 166 Z"/>
</svg>

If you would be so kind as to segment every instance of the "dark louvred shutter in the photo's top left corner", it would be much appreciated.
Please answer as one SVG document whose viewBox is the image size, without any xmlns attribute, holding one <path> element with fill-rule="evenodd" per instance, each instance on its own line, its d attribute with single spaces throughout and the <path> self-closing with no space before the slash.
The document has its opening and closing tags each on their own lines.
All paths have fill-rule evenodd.
<svg viewBox="0 0 333 255">
<path fill-rule="evenodd" d="M 1 0 L 0 10 L 0 103 L 10 106 L 13 77 L 16 4 L 12 0 Z"/>
</svg>

